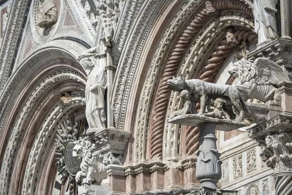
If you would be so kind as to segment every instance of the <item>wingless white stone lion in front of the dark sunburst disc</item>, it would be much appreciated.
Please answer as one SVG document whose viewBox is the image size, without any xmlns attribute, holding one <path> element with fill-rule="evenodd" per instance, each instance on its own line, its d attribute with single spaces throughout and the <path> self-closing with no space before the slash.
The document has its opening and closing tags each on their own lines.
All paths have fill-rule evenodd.
<svg viewBox="0 0 292 195">
<path fill-rule="evenodd" d="M 106 166 L 102 162 L 100 152 L 96 150 L 95 144 L 88 140 L 74 141 L 73 157 L 82 158 L 80 168 L 75 176 L 76 183 L 79 185 L 90 185 L 92 179 L 97 185 L 108 186 L 109 178 Z"/>
</svg>

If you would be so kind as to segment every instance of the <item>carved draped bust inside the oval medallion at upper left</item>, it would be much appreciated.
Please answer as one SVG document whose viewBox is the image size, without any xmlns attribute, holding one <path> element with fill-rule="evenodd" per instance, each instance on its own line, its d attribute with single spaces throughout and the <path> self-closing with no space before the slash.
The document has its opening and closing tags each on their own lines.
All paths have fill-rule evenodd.
<svg viewBox="0 0 292 195">
<path fill-rule="evenodd" d="M 54 0 L 39 0 L 38 9 L 41 12 L 37 25 L 47 29 L 51 27 L 58 19 L 58 10 Z"/>
</svg>

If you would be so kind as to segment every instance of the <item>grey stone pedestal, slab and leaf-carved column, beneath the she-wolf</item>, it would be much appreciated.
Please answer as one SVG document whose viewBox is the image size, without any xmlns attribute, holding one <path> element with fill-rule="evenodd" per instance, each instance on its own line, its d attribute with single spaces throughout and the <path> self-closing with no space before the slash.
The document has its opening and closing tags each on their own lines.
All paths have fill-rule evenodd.
<svg viewBox="0 0 292 195">
<path fill-rule="evenodd" d="M 196 178 L 202 187 L 218 189 L 221 178 L 221 161 L 217 150 L 215 130 L 231 131 L 246 126 L 243 122 L 198 115 L 182 115 L 168 120 L 169 123 L 198 127 L 200 131 L 197 152 Z"/>
</svg>

